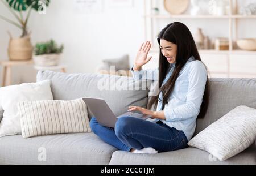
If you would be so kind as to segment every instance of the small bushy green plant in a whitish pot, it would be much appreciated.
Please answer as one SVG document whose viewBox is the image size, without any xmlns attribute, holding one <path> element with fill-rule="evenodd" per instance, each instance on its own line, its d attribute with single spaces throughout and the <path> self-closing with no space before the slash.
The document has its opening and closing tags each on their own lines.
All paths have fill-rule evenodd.
<svg viewBox="0 0 256 176">
<path fill-rule="evenodd" d="M 59 65 L 63 49 L 63 44 L 58 46 L 54 40 L 37 43 L 33 57 L 35 65 L 44 67 Z"/>
</svg>

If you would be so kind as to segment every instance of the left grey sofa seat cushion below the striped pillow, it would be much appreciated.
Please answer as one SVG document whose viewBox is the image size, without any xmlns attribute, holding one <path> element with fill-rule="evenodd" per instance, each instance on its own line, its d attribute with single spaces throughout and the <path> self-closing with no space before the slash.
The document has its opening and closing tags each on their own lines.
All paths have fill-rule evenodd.
<svg viewBox="0 0 256 176">
<path fill-rule="evenodd" d="M 0 138 L 2 164 L 109 164 L 117 149 L 92 132 Z"/>
</svg>

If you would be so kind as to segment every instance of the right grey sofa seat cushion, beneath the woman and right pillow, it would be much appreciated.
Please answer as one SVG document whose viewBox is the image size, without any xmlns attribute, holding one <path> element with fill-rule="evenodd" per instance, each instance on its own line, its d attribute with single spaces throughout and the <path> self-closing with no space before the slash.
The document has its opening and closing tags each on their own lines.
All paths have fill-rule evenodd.
<svg viewBox="0 0 256 176">
<path fill-rule="evenodd" d="M 225 161 L 219 161 L 208 152 L 197 148 L 188 147 L 171 152 L 162 152 L 156 154 L 137 154 L 125 151 L 115 151 L 110 160 L 111 165 L 125 164 L 125 165 L 183 165 L 183 164 L 256 164 L 255 144 L 251 145 L 245 151 L 229 158 Z"/>
</svg>

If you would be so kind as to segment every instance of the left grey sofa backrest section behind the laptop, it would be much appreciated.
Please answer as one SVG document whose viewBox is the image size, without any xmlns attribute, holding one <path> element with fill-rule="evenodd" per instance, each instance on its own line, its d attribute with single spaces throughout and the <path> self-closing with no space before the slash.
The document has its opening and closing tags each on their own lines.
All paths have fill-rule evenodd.
<svg viewBox="0 0 256 176">
<path fill-rule="evenodd" d="M 127 112 L 128 106 L 146 108 L 150 82 L 134 81 L 131 77 L 103 74 L 65 74 L 39 71 L 37 81 L 51 80 L 54 100 L 73 100 L 81 97 L 102 98 L 115 115 Z M 140 88 L 140 89 L 139 89 Z M 100 107 L 99 107 L 100 108 Z M 92 113 L 89 111 L 89 118 Z"/>
</svg>

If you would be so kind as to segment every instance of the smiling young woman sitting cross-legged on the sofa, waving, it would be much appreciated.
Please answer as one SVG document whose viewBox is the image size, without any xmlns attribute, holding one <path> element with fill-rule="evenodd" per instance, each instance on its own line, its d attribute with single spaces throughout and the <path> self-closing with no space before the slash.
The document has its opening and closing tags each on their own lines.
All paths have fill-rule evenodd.
<svg viewBox="0 0 256 176">
<path fill-rule="evenodd" d="M 189 29 L 180 22 L 168 24 L 160 32 L 158 43 L 158 69 L 142 70 L 152 58 L 147 57 L 150 41 L 141 45 L 131 68 L 135 80 L 158 80 L 158 95 L 150 98 L 148 109 L 129 107 L 129 111 L 139 110 L 155 121 L 121 117 L 115 128 L 101 126 L 96 118 L 90 121 L 96 135 L 123 151 L 157 153 L 188 147 L 196 118 L 203 117 L 208 106 L 207 68 Z M 152 107 L 156 111 L 150 110 Z"/>
</svg>

